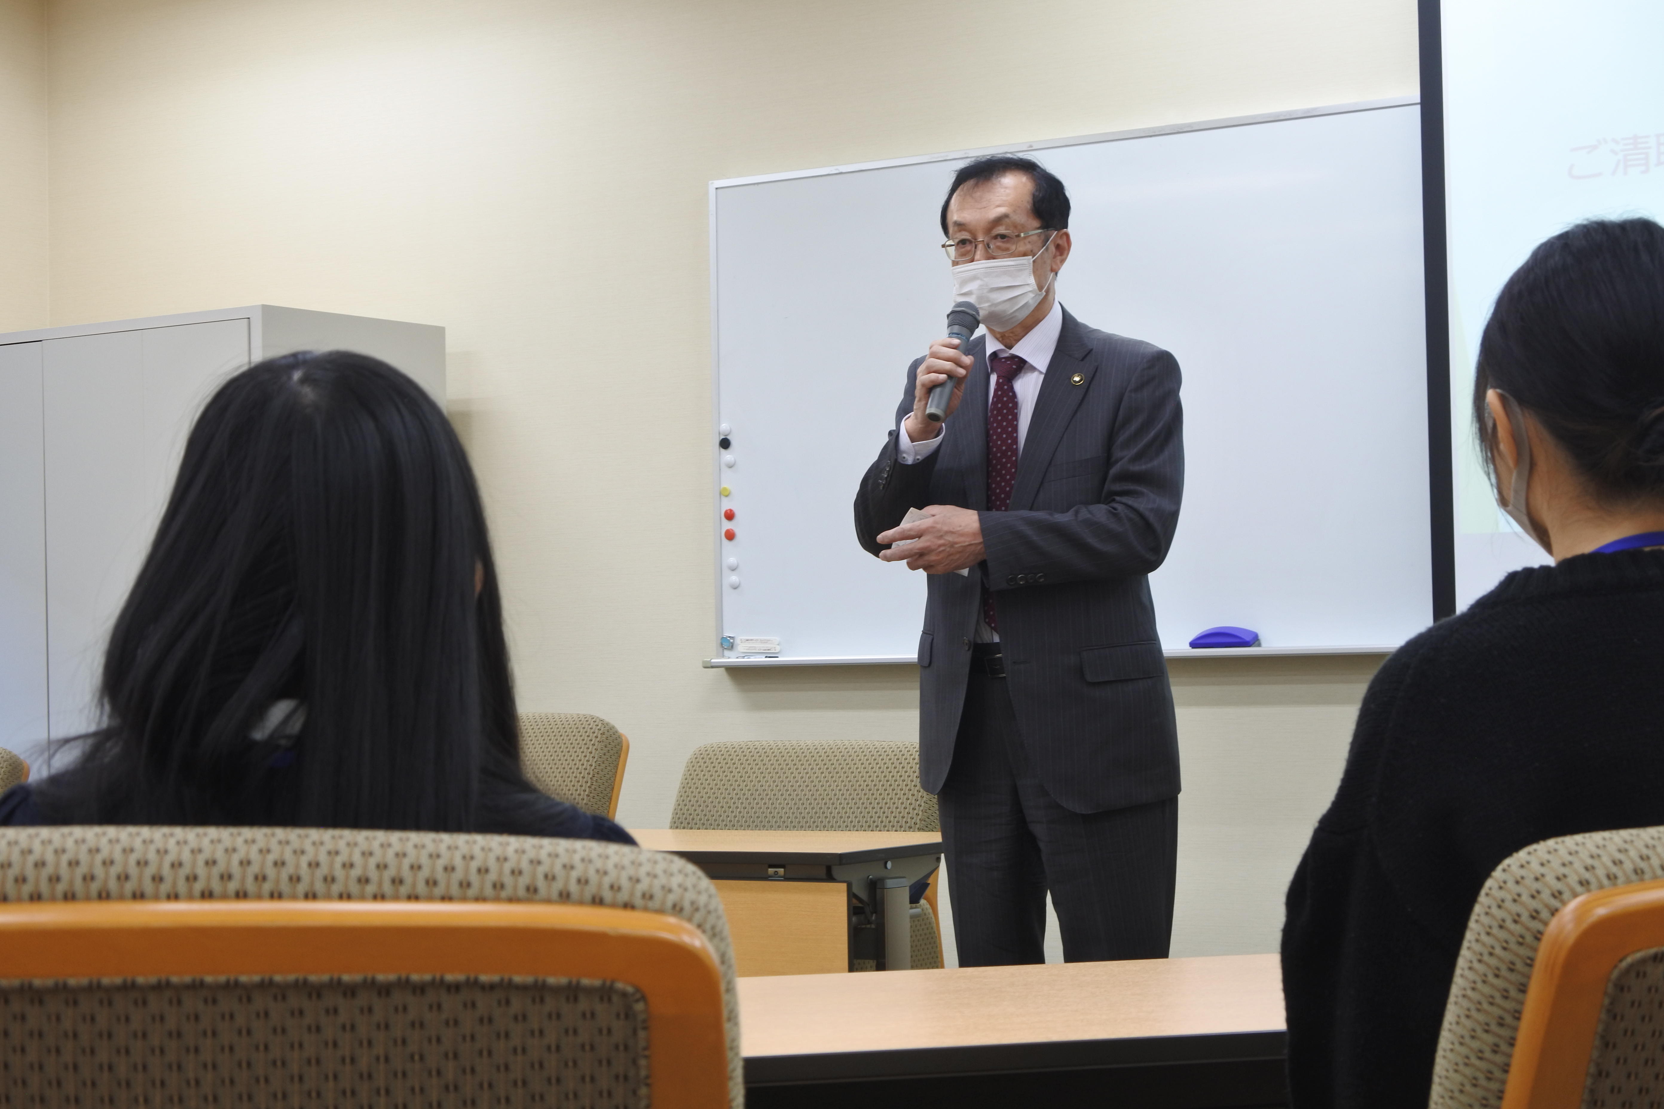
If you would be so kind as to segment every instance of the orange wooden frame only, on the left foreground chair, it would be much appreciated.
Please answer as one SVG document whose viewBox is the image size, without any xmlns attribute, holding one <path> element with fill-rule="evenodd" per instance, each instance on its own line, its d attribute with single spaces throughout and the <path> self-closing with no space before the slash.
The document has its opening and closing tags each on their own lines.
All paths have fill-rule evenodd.
<svg viewBox="0 0 1664 1109">
<path fill-rule="evenodd" d="M 722 974 L 664 913 L 458 901 L 0 904 L 0 979 L 456 974 L 627 983 L 656 1109 L 729 1104 Z"/>
</svg>

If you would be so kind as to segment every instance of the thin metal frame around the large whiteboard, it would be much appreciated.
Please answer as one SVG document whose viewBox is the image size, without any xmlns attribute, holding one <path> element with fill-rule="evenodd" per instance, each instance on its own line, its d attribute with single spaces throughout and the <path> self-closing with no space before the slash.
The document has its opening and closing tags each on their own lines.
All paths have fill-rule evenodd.
<svg viewBox="0 0 1664 1109">
<path fill-rule="evenodd" d="M 1406 108 L 1411 105 L 1419 105 L 1421 95 L 1413 96 L 1386 96 L 1381 100 L 1354 100 L 1351 103 L 1341 105 L 1323 105 L 1318 108 L 1291 108 L 1288 111 L 1261 111 L 1256 115 L 1240 115 L 1226 116 L 1221 120 L 1198 120 L 1191 123 L 1165 123 L 1161 126 L 1140 126 L 1125 131 L 1102 131 L 1098 135 L 1075 135 L 1072 138 L 1045 138 L 1033 143 L 1008 143 L 1005 146 L 978 146 L 973 150 L 952 150 L 937 155 L 915 155 L 912 158 L 887 158 L 884 161 L 859 161 L 847 166 L 824 166 L 819 170 L 790 170 L 785 173 L 762 173 L 749 178 L 726 178 L 721 181 L 711 181 L 707 195 L 707 221 L 711 236 L 711 444 L 721 437 L 722 426 L 722 366 L 721 366 L 721 296 L 717 286 L 717 190 L 732 188 L 735 185 L 762 185 L 767 181 L 790 181 L 795 178 L 819 178 L 835 173 L 865 173 L 867 170 L 889 170 L 892 166 L 915 166 L 930 161 L 962 161 L 970 158 L 983 158 L 987 155 L 1010 155 L 1025 153 L 1033 150 L 1052 150 L 1055 146 L 1092 146 L 1095 143 L 1122 143 L 1132 138 L 1150 138 L 1155 135 L 1181 135 L 1186 131 L 1216 131 L 1231 126 L 1251 126 L 1255 123 L 1280 123 L 1283 120 L 1308 120 L 1313 116 L 1326 115 L 1350 115 L 1354 111 L 1379 111 L 1383 108 Z M 1426 113 L 1423 113 L 1424 116 Z M 712 462 L 717 469 L 717 485 L 722 484 L 722 452 L 717 451 L 712 456 Z M 1446 472 L 1446 485 L 1449 477 Z M 1438 477 L 1434 476 L 1434 484 Z M 719 497 L 721 499 L 721 497 Z M 721 505 L 717 505 L 721 517 Z M 716 602 L 716 642 L 722 638 L 722 529 L 717 527 L 712 534 L 711 550 L 716 562 L 712 567 L 717 570 L 712 589 L 712 600 Z M 1398 650 L 1398 645 L 1368 645 L 1368 647 L 1230 647 L 1230 648 L 1178 648 L 1163 652 L 1168 658 L 1193 658 L 1193 657 L 1215 657 L 1215 655 L 1231 655 L 1231 657 L 1288 657 L 1288 655 L 1389 655 Z M 702 658 L 701 665 L 709 670 L 724 668 L 755 668 L 755 667 L 867 667 L 867 665 L 894 665 L 894 663 L 914 663 L 917 658 L 914 655 L 822 655 L 822 657 L 794 657 L 794 658 Z"/>
</svg>

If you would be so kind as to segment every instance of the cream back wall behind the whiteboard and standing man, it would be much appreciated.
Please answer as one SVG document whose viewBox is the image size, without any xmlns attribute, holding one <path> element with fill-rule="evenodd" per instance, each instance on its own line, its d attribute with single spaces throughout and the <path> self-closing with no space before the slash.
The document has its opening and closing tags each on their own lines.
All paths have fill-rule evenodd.
<svg viewBox="0 0 1664 1109">
<path fill-rule="evenodd" d="M 266 301 L 444 324 L 522 703 L 617 722 L 636 745 L 621 816 L 657 825 L 697 743 L 915 730 L 910 670 L 699 667 L 709 180 L 1416 90 L 1411 0 L 1015 12 L 53 0 L 52 323 Z M 1181 938 L 1275 943 L 1261 909 L 1371 665 L 1175 668 L 1186 843 L 1221 845 L 1186 861 Z M 1260 805 L 1280 831 L 1233 843 L 1230 813 Z M 1251 928 L 1213 908 L 1241 881 Z"/>
</svg>

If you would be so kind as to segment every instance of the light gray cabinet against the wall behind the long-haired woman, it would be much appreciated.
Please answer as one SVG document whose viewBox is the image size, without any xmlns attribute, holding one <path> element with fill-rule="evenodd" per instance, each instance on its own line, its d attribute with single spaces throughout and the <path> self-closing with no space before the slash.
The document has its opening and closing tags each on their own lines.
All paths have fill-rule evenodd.
<svg viewBox="0 0 1664 1109">
<path fill-rule="evenodd" d="M 256 304 L 0 334 L 0 747 L 97 725 L 105 638 L 208 394 L 250 362 L 351 349 L 444 404 L 444 329 Z"/>
</svg>

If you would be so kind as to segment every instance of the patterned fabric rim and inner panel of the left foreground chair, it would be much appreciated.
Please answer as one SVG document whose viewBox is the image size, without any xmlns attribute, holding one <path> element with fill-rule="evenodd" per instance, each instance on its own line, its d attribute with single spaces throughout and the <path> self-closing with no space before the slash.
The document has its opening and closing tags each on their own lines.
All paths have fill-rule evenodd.
<svg viewBox="0 0 1664 1109">
<path fill-rule="evenodd" d="M 0 828 L 0 901 L 93 900 L 547 901 L 669 913 L 702 931 L 716 953 L 727 1009 L 730 1102 L 735 1109 L 744 1104 L 734 951 L 722 903 L 711 881 L 674 855 L 591 840 L 416 831 Z M 549 1096 L 536 1104 L 646 1104 L 642 999 L 627 984 L 201 979 L 135 981 L 98 993 L 92 998 L 87 986 L 72 984 L 0 984 L 0 1106 L 138 1104 L 121 1097 L 35 1097 L 15 1084 L 18 1067 L 27 1067 L 32 1038 L 50 1047 L 42 1036 L 62 1038 L 65 1028 L 75 1026 L 83 1029 L 77 1036 L 87 1049 L 97 1052 L 100 1029 L 130 1028 L 121 1024 L 123 1014 L 138 1011 L 151 1014 L 153 1023 L 138 1031 L 155 1044 L 175 1042 L 170 1029 L 201 1028 L 195 1021 L 213 1014 L 221 1029 L 216 1038 L 238 1046 L 240 1064 L 265 1069 L 268 1077 L 291 1066 L 316 1069 L 316 1076 L 285 1076 L 285 1104 L 521 1104 L 518 1092 L 508 1101 L 503 1096 L 524 1081 L 547 1082 Z M 443 1052 L 451 1044 L 438 1041 L 434 1029 L 464 1014 L 473 1026 L 464 1028 L 463 1046 L 476 1054 L 469 1066 L 446 1069 L 436 1047 Z M 522 1019 L 531 1014 L 541 1016 Z M 381 1074 L 399 1086 L 396 1092 L 378 1086 L 374 1097 L 359 1102 L 343 1091 L 368 1081 L 356 1069 L 371 1074 L 378 1064 L 353 1054 L 351 1034 L 376 1021 L 408 1031 L 411 1054 L 381 1057 Z M 484 1021 L 499 1039 L 479 1036 Z M 178 1064 L 211 1061 L 191 1057 Z M 323 1082 L 334 1082 L 326 1096 L 319 1092 Z M 609 1091 L 606 1099 L 602 1087 Z M 193 1094 L 153 1104 L 220 1102 Z"/>
</svg>

